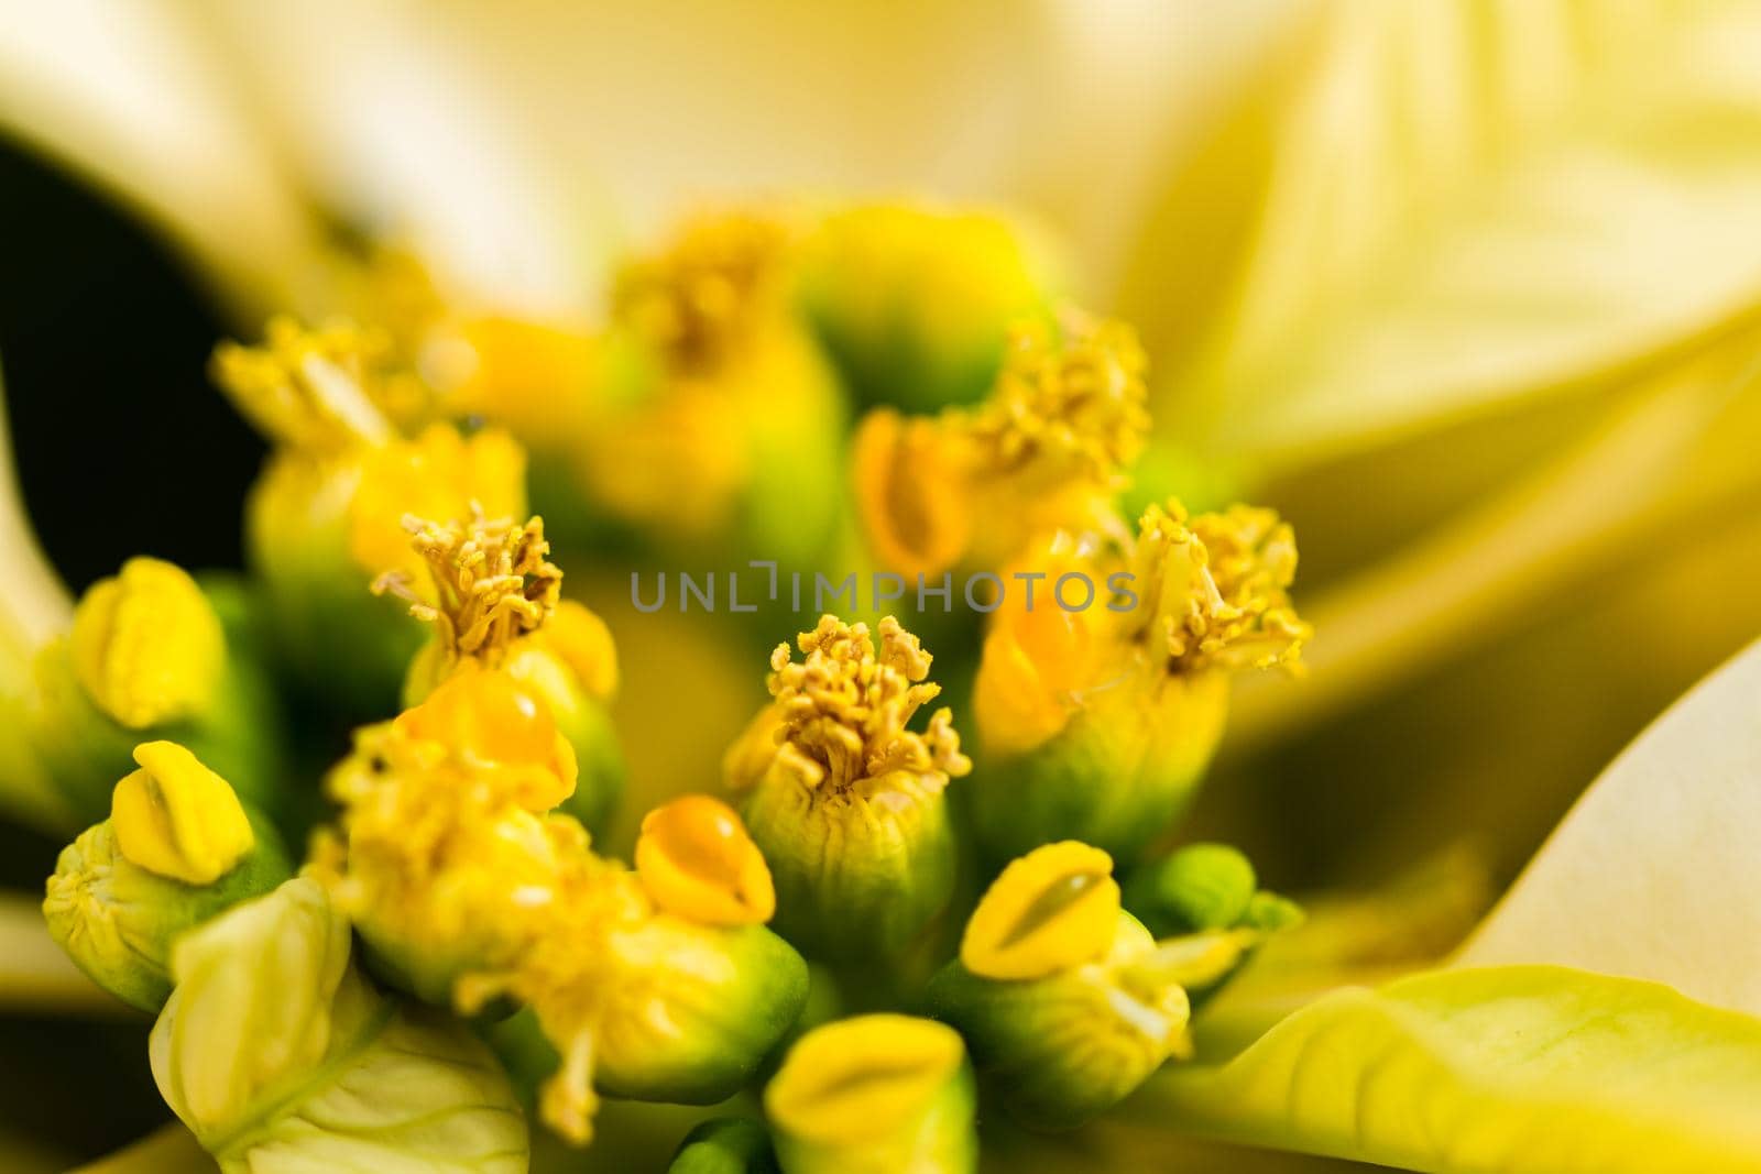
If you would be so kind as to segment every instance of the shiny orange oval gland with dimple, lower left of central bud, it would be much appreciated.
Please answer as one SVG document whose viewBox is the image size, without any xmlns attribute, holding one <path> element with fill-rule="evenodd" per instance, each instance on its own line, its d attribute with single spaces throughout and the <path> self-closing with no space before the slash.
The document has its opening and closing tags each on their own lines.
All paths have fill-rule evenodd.
<svg viewBox="0 0 1761 1174">
<path fill-rule="evenodd" d="M 643 817 L 636 873 L 669 914 L 710 926 L 759 926 L 777 912 L 770 866 L 731 806 L 685 796 Z"/>
</svg>

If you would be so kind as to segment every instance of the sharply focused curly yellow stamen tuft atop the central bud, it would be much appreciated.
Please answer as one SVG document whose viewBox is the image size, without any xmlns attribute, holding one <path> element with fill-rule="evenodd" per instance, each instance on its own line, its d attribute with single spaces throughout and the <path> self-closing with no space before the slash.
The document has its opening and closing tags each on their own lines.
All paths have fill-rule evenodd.
<svg viewBox="0 0 1761 1174">
<path fill-rule="evenodd" d="M 880 621 L 879 655 L 868 625 L 836 616 L 822 616 L 798 642 L 801 664 L 787 644 L 771 653 L 770 692 L 782 722 L 778 760 L 803 785 L 851 790 L 895 773 L 946 785 L 972 769 L 949 709 L 935 711 L 921 734 L 905 729 L 942 686 L 925 683 L 930 653 L 898 620 Z"/>
</svg>

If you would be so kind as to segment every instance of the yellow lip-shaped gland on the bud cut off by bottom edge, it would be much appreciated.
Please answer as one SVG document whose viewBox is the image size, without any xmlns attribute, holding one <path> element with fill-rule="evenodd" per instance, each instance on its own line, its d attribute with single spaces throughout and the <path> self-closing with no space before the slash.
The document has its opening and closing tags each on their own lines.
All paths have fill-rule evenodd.
<svg viewBox="0 0 1761 1174">
<path fill-rule="evenodd" d="M 764 1090 L 764 1112 L 815 1144 L 888 1142 L 935 1104 L 963 1061 L 960 1033 L 932 1019 L 840 1019 L 789 1049 Z"/>
</svg>

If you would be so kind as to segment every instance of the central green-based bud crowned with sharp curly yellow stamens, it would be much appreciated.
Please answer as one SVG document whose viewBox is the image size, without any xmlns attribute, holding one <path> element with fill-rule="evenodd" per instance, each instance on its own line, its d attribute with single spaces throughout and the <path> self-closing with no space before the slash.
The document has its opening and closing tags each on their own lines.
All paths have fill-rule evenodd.
<svg viewBox="0 0 1761 1174">
<path fill-rule="evenodd" d="M 923 732 L 905 729 L 939 688 L 896 620 L 880 621 L 879 655 L 866 625 L 835 616 L 799 644 L 805 664 L 791 664 L 787 644 L 773 653 L 775 702 L 729 755 L 731 781 L 750 790 L 745 820 L 777 882 L 777 931 L 826 961 L 893 959 L 953 891 L 944 789 L 970 762 L 947 709 Z"/>
</svg>

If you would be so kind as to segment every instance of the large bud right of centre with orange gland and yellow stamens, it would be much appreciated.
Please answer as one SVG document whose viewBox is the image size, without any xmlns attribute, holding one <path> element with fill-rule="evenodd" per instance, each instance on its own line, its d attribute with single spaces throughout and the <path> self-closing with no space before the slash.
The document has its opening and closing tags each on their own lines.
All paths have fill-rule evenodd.
<svg viewBox="0 0 1761 1174">
<path fill-rule="evenodd" d="M 1053 540 L 1032 561 L 1050 583 L 1129 574 L 1129 591 L 1074 613 L 1006 605 L 984 637 L 974 688 L 984 774 L 970 794 L 993 859 L 1065 836 L 1136 859 L 1197 790 L 1229 676 L 1300 664 L 1310 628 L 1287 590 L 1296 540 L 1271 510 L 1192 517 L 1169 502 L 1122 546 L 1085 554 Z"/>
</svg>

